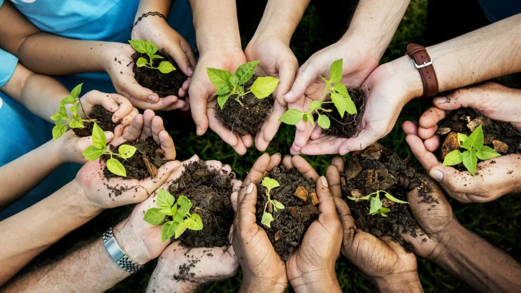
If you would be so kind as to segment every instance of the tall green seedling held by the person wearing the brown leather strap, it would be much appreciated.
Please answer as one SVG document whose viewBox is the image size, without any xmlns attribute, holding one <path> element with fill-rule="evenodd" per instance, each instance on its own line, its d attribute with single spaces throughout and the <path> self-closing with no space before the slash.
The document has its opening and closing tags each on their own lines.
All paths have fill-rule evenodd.
<svg viewBox="0 0 521 293">
<path fill-rule="evenodd" d="M 342 62 L 343 59 L 336 60 L 331 64 L 330 69 L 330 78 L 329 80 L 325 77 L 320 76 L 324 82 L 326 82 L 326 91 L 324 92 L 324 95 L 322 96 L 322 99 L 320 101 L 313 101 L 309 105 L 309 111 L 307 112 L 300 112 L 297 109 L 289 109 L 282 115 L 282 117 L 279 118 L 279 121 L 282 123 L 286 123 L 289 125 L 295 125 L 299 123 L 301 120 L 304 120 L 305 122 L 311 121 L 311 124 L 315 126 L 315 120 L 313 118 L 313 113 L 316 113 L 318 115 L 317 123 L 318 126 L 320 126 L 323 129 L 329 128 L 331 126 L 331 121 L 329 120 L 329 117 L 327 115 L 324 115 L 324 112 L 331 112 L 331 109 L 324 109 L 322 108 L 322 105 L 333 103 L 334 106 L 337 108 L 338 113 L 340 114 L 340 117 L 344 118 L 344 113 L 348 112 L 349 114 L 356 114 L 356 106 L 353 103 L 353 100 L 351 100 L 351 96 L 348 93 L 348 89 L 345 88 L 345 86 L 340 82 L 342 79 Z M 331 86 L 331 83 L 335 83 L 334 86 Z M 325 102 L 324 99 L 327 95 L 331 96 L 331 101 Z M 320 114 L 322 113 L 322 114 Z"/>
</svg>

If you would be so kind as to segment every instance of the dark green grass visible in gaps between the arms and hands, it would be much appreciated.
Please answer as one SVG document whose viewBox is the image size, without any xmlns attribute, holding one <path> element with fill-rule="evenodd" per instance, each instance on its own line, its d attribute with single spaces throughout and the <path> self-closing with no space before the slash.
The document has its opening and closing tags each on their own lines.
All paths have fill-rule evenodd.
<svg viewBox="0 0 521 293">
<path fill-rule="evenodd" d="M 238 4 L 239 21 L 243 46 L 245 47 L 262 17 L 264 1 L 240 1 Z M 331 7 L 320 1 L 312 1 L 306 13 L 295 31 L 291 42 L 291 48 L 299 59 L 300 64 L 321 48 L 334 43 L 340 38 L 349 23 L 355 5 L 350 1 L 338 1 L 337 6 Z M 381 63 L 388 62 L 403 56 L 408 43 L 416 42 L 425 44 L 423 36 L 427 26 L 427 1 L 412 0 L 407 12 L 396 31 L 394 38 L 384 54 Z M 502 79 L 507 85 L 517 86 L 513 78 Z M 391 149 L 395 149 L 403 156 L 411 154 L 405 143 L 405 134 L 400 125 L 405 120 L 415 120 L 427 109 L 430 101 L 416 99 L 406 105 L 394 130 L 380 142 Z M 179 118 L 176 113 L 162 113 L 167 121 L 167 129 L 170 130 L 176 143 L 178 159 L 185 160 L 193 154 L 198 154 L 203 160 L 220 160 L 224 164 L 232 166 L 238 178 L 244 178 L 261 155 L 254 148 L 250 148 L 244 156 L 239 156 L 233 149 L 224 143 L 215 133 L 208 131 L 205 136 L 197 137 L 194 133 L 195 126 L 190 118 Z M 294 137 L 294 127 L 281 126 L 274 141 L 267 150 L 268 153 L 280 152 L 289 154 L 289 149 Z M 324 174 L 332 156 L 309 156 L 307 160 L 317 169 L 319 174 Z M 416 166 L 419 164 L 415 161 Z M 491 203 L 458 204 L 450 200 L 454 213 L 458 220 L 467 228 L 481 237 L 487 239 L 493 245 L 510 253 L 516 260 L 521 257 L 521 230 L 517 226 L 521 203 L 518 197 L 505 196 Z M 70 235 L 58 242 L 52 248 L 44 252 L 34 264 L 42 265 L 56 260 L 56 255 L 65 255 L 67 251 L 74 249 L 75 243 L 84 239 L 100 237 L 103 231 L 110 225 L 120 221 L 133 206 L 119 207 L 107 210 L 94 218 L 90 223 L 73 231 Z M 145 268 L 123 280 L 113 291 L 117 292 L 141 292 L 146 287 L 148 279 L 155 267 L 155 261 L 148 263 Z M 353 266 L 340 257 L 336 267 L 338 280 L 343 291 L 368 292 L 373 291 L 369 282 L 354 272 Z M 421 284 L 426 292 L 467 292 L 469 287 L 459 282 L 441 270 L 437 265 L 418 259 L 418 274 Z M 229 279 L 205 285 L 200 290 L 203 292 L 236 292 L 241 285 L 241 272 Z"/>
</svg>

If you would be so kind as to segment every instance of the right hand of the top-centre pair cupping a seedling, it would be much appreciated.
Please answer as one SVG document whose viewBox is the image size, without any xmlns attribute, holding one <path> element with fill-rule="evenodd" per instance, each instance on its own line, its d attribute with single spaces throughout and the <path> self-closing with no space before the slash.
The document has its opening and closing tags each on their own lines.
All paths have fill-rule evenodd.
<svg viewBox="0 0 521 293">
<path fill-rule="evenodd" d="M 279 118 L 287 110 L 287 103 L 283 100 L 283 95 L 290 90 L 293 84 L 299 62 L 289 44 L 277 36 L 262 34 L 254 36 L 244 53 L 249 62 L 261 61 L 257 66 L 257 74 L 279 79 L 279 84 L 274 92 L 275 104 L 273 110 L 264 121 L 261 131 L 255 137 L 256 148 L 259 151 L 265 151 L 280 127 Z"/>
</svg>

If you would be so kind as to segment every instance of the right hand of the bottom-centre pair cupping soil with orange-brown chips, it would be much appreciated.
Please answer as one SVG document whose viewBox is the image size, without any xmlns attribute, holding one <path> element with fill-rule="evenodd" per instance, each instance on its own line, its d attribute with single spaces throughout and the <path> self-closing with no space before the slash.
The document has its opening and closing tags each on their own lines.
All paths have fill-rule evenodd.
<svg viewBox="0 0 521 293">
<path fill-rule="evenodd" d="M 309 226 L 301 246 L 288 259 L 288 279 L 296 292 L 341 292 L 334 265 L 342 246 L 342 226 L 326 177 L 317 180 L 316 193 L 318 220 Z"/>
</svg>

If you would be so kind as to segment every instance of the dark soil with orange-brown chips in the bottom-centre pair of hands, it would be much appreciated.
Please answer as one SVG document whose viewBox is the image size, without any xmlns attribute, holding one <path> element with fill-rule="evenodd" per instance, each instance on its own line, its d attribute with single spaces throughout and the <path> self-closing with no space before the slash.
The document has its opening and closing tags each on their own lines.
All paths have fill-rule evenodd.
<svg viewBox="0 0 521 293">
<path fill-rule="evenodd" d="M 286 261 L 299 247 L 309 225 L 318 218 L 316 184 L 295 168 L 275 167 L 269 177 L 280 184 L 280 187 L 271 190 L 271 199 L 281 202 L 285 208 L 275 212 L 268 204 L 266 212 L 271 212 L 274 221 L 271 228 L 264 226 L 261 220 L 267 202 L 266 188 L 262 184 L 257 185 L 257 224 L 266 230 L 275 251 Z"/>
</svg>

